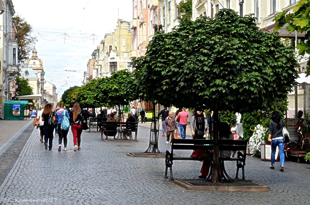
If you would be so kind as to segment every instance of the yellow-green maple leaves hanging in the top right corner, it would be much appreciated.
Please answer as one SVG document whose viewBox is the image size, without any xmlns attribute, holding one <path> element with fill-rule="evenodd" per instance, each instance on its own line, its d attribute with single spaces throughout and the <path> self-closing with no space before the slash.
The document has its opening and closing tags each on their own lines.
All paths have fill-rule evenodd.
<svg viewBox="0 0 310 205">
<path fill-rule="evenodd" d="M 286 30 L 289 32 L 306 32 L 305 37 L 300 44 L 297 45 L 299 54 L 310 54 L 310 2 L 309 0 L 300 0 L 295 5 L 293 13 L 288 13 L 289 10 L 280 12 L 275 17 L 275 31 L 278 31 L 284 25 L 288 24 Z M 304 41 L 306 40 L 306 41 Z"/>
</svg>

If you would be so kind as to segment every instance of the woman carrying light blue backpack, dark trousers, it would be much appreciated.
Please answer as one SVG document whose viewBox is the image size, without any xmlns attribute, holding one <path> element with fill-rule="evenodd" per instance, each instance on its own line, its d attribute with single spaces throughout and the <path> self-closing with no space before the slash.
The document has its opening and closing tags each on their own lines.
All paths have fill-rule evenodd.
<svg viewBox="0 0 310 205">
<path fill-rule="evenodd" d="M 61 143 L 62 143 L 63 138 L 64 138 L 64 151 L 66 151 L 67 142 L 68 142 L 67 135 L 69 132 L 69 127 L 70 127 L 70 124 L 69 124 L 70 116 L 69 116 L 68 111 L 64 109 L 64 104 L 60 104 L 59 107 L 60 109 L 55 112 L 55 117 L 57 120 L 58 143 L 59 143 L 58 151 L 61 151 Z M 61 126 L 62 123 L 63 123 L 63 127 Z"/>
</svg>

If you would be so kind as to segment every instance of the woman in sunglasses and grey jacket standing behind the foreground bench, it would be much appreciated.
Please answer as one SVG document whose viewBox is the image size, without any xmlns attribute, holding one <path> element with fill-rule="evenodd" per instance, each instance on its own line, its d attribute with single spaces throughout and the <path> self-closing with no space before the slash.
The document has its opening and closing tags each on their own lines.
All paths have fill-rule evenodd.
<svg viewBox="0 0 310 205">
<path fill-rule="evenodd" d="M 193 139 L 204 139 L 205 132 L 208 130 L 208 124 L 202 108 L 195 109 L 194 115 L 191 118 L 190 129 Z"/>
</svg>

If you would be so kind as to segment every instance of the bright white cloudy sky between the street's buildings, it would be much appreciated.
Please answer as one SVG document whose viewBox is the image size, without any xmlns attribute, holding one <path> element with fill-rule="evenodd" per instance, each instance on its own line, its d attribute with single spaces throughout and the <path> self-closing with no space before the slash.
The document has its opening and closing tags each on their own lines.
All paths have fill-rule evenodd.
<svg viewBox="0 0 310 205">
<path fill-rule="evenodd" d="M 33 28 L 45 80 L 56 85 L 59 97 L 69 87 L 81 86 L 88 59 L 104 35 L 114 31 L 117 19 L 132 20 L 132 0 L 12 1 L 15 15 L 24 18 Z M 74 39 L 95 34 L 96 39 L 75 42 L 68 37 L 66 40 L 57 37 L 64 33 Z"/>
</svg>

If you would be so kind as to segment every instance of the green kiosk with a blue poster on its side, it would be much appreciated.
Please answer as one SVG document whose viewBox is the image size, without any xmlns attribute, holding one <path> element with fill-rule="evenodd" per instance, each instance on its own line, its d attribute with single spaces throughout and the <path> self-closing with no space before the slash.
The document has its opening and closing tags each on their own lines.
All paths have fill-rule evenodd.
<svg viewBox="0 0 310 205">
<path fill-rule="evenodd" d="M 6 100 L 4 102 L 4 120 L 24 120 L 24 107 L 28 101 Z"/>
</svg>

